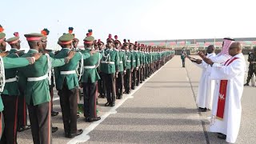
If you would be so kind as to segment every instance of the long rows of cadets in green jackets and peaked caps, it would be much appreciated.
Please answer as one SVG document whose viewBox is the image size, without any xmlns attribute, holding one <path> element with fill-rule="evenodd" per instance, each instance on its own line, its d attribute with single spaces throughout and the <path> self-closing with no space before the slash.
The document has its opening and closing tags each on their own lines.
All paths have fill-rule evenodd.
<svg viewBox="0 0 256 144">
<path fill-rule="evenodd" d="M 30 46 L 25 53 L 20 50 L 18 32 L 6 39 L 0 26 L 0 143 L 17 143 L 17 130 L 30 128 L 34 143 L 52 142 L 51 134 L 58 130 L 51 122 L 51 117 L 58 115 L 53 110 L 54 84 L 60 98 L 65 137 L 82 134 L 77 127 L 78 86 L 83 88 L 85 121 L 98 121 L 98 97 L 106 98 L 105 106 L 114 106 L 116 98 L 130 94 L 173 54 L 126 39 L 122 43 L 111 34 L 105 45 L 94 39 L 92 30 L 83 39 L 84 47 L 78 48 L 73 27 L 58 38 L 62 50 L 53 53 L 46 49 L 49 33 L 44 29 L 41 33 L 25 34 Z M 6 42 L 10 51 L 6 51 Z M 30 126 L 26 123 L 26 109 Z"/>
</svg>

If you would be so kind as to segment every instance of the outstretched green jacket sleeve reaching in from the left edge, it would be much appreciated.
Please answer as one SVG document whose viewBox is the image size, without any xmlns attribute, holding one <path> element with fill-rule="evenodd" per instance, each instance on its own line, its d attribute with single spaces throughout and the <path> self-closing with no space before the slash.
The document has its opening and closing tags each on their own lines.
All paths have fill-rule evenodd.
<svg viewBox="0 0 256 144">
<path fill-rule="evenodd" d="M 18 68 L 22 66 L 28 66 L 30 62 L 26 58 L 8 58 L 4 57 L 3 64 L 5 69 Z M 3 110 L 2 98 L 0 98 L 0 112 Z"/>
</svg>

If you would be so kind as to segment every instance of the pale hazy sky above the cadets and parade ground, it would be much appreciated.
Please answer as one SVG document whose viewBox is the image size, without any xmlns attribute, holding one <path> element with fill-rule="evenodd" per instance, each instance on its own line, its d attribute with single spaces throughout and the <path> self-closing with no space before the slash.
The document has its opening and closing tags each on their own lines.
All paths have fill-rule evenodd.
<svg viewBox="0 0 256 144">
<path fill-rule="evenodd" d="M 7 38 L 50 30 L 49 48 L 69 26 L 85 38 L 88 29 L 105 41 L 108 34 L 132 42 L 151 39 L 256 37 L 253 0 L 6 0 L 0 24 Z M 22 37 L 22 47 L 28 47 Z"/>
</svg>

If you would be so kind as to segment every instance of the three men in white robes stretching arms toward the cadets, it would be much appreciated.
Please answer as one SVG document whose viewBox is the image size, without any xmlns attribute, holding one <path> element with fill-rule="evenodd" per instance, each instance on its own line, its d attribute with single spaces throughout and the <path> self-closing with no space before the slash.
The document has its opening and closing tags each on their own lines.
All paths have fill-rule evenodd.
<svg viewBox="0 0 256 144">
<path fill-rule="evenodd" d="M 241 98 L 246 72 L 246 61 L 242 44 L 232 38 L 224 38 L 222 50 L 215 54 L 213 45 L 207 47 L 207 54 L 198 52 L 202 59 L 190 58 L 202 68 L 198 86 L 197 105 L 201 112 L 211 110 L 210 132 L 218 138 L 234 143 L 238 137 L 241 122 Z M 247 80 L 248 83 L 248 80 Z"/>
</svg>

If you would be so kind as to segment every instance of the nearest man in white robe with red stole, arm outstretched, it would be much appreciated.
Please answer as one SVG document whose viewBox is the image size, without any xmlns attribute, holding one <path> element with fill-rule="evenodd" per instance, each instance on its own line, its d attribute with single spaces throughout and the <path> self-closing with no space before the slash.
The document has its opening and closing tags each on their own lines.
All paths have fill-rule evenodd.
<svg viewBox="0 0 256 144">
<path fill-rule="evenodd" d="M 241 98 L 243 81 L 246 72 L 246 61 L 242 54 L 242 44 L 234 42 L 229 48 L 232 56 L 224 64 L 204 59 L 212 66 L 210 78 L 218 80 L 214 95 L 210 132 L 221 133 L 218 138 L 234 143 L 240 128 L 242 106 Z"/>
</svg>

